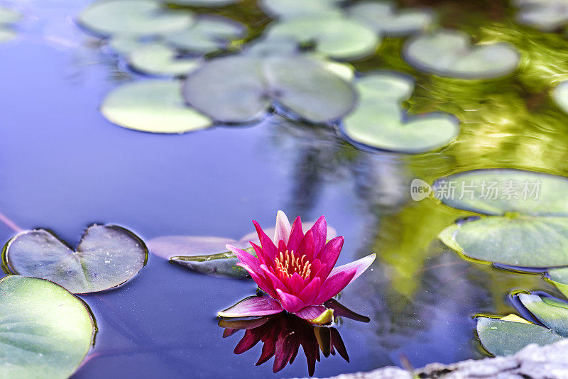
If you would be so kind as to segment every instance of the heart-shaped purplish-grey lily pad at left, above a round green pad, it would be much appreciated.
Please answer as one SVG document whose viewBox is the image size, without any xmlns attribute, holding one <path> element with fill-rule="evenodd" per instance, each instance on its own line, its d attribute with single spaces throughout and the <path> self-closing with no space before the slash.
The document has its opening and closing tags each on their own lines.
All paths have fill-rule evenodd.
<svg viewBox="0 0 568 379">
<path fill-rule="evenodd" d="M 138 273 L 147 257 L 140 238 L 114 225 L 90 226 L 77 251 L 44 229 L 17 234 L 2 251 L 9 273 L 51 280 L 73 293 L 121 285 Z"/>
</svg>

